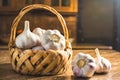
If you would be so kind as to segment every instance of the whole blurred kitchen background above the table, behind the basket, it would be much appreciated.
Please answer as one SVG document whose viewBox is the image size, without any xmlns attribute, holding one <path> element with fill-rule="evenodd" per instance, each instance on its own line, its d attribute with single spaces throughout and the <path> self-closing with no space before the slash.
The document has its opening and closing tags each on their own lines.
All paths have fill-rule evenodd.
<svg viewBox="0 0 120 80">
<path fill-rule="evenodd" d="M 30 4 L 45 4 L 55 8 L 65 19 L 73 48 L 108 46 L 120 50 L 119 0 L 0 0 L 0 46 L 7 46 L 11 24 L 20 10 Z M 54 14 L 42 9 L 32 10 L 19 22 L 16 34 L 22 32 L 24 21 L 35 27 L 58 29 L 63 34 Z M 46 23 L 47 21 L 47 23 Z"/>
</svg>

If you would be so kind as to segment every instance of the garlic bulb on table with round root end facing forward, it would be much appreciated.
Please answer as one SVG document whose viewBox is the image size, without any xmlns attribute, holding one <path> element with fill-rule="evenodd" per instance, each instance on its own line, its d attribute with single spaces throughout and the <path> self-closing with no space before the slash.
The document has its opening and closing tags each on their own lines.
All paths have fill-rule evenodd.
<svg viewBox="0 0 120 80">
<path fill-rule="evenodd" d="M 95 59 L 89 54 L 78 53 L 72 64 L 73 73 L 77 77 L 91 77 L 95 70 Z"/>
</svg>

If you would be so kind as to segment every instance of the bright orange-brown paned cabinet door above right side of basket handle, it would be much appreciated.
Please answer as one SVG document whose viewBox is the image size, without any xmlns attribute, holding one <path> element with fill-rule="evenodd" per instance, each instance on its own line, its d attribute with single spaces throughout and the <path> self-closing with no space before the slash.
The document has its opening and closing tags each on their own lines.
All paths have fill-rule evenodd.
<svg viewBox="0 0 120 80">
<path fill-rule="evenodd" d="M 50 5 L 59 12 L 77 12 L 77 0 L 44 0 L 44 4 Z"/>
</svg>

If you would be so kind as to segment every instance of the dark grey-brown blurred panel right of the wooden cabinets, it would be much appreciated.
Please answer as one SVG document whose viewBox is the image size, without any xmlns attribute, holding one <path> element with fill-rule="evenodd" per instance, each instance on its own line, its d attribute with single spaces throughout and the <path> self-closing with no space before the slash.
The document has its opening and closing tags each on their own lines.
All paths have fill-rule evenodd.
<svg viewBox="0 0 120 80">
<path fill-rule="evenodd" d="M 113 44 L 114 0 L 79 0 L 78 42 Z"/>
</svg>

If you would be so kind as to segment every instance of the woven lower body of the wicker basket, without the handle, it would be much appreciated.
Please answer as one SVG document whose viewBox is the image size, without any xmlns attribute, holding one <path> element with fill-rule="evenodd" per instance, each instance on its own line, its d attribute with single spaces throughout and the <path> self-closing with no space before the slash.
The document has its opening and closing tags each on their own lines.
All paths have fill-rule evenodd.
<svg viewBox="0 0 120 80">
<path fill-rule="evenodd" d="M 70 51 L 70 50 L 68 50 Z M 13 70 L 28 75 L 58 75 L 65 73 L 71 65 L 71 52 L 66 51 L 22 51 L 11 48 Z"/>
</svg>

